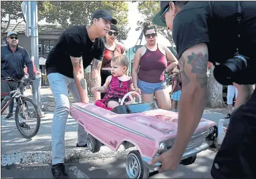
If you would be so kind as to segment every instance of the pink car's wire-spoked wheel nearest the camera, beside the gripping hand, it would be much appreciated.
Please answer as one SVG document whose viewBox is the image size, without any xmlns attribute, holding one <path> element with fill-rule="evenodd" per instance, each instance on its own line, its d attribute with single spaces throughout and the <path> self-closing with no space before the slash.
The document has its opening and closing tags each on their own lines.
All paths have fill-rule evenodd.
<svg viewBox="0 0 256 179">
<path fill-rule="evenodd" d="M 129 178 L 148 178 L 149 170 L 144 166 L 138 150 L 131 151 L 127 155 L 126 173 Z"/>
</svg>

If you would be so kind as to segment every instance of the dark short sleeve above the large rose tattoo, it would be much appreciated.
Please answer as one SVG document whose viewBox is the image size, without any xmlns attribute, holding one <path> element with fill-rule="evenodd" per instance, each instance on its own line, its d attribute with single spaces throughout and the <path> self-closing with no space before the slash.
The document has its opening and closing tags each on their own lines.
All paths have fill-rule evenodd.
<svg viewBox="0 0 256 179">
<path fill-rule="evenodd" d="M 209 43 L 207 9 L 195 8 L 180 11 L 174 18 L 172 37 L 178 59 L 186 49 L 198 43 Z"/>
</svg>

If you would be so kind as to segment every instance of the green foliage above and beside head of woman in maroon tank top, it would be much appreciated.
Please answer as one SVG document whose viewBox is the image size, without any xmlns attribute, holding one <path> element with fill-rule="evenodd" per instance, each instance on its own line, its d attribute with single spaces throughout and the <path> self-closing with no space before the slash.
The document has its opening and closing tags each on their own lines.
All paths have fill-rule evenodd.
<svg viewBox="0 0 256 179">
<path fill-rule="evenodd" d="M 160 1 L 138 1 L 138 11 L 142 14 L 144 21 L 152 21 L 154 15 L 160 11 Z M 138 27 L 136 30 L 140 30 L 142 26 L 142 21 L 137 21 Z M 165 27 L 156 26 L 158 33 L 163 35 L 166 39 L 170 41 L 173 45 L 174 41 L 172 39 L 172 34 L 167 31 Z"/>
</svg>

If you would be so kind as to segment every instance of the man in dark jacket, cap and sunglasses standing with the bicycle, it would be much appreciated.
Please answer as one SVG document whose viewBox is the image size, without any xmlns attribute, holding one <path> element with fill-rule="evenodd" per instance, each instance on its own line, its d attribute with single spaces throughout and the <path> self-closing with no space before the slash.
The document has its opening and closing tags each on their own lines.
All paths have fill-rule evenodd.
<svg viewBox="0 0 256 179">
<path fill-rule="evenodd" d="M 24 66 L 27 67 L 29 78 L 35 79 L 33 75 L 33 63 L 27 53 L 27 50 L 18 45 L 19 37 L 16 32 L 7 33 L 7 45 L 1 47 L 1 100 L 5 94 L 17 88 L 15 81 L 5 81 L 8 77 L 21 80 L 25 73 Z M 21 94 L 23 94 L 23 85 L 20 87 Z M 9 114 L 5 118 L 13 117 L 14 102 L 9 105 Z M 29 128 L 25 122 L 21 123 L 21 127 Z"/>
</svg>

